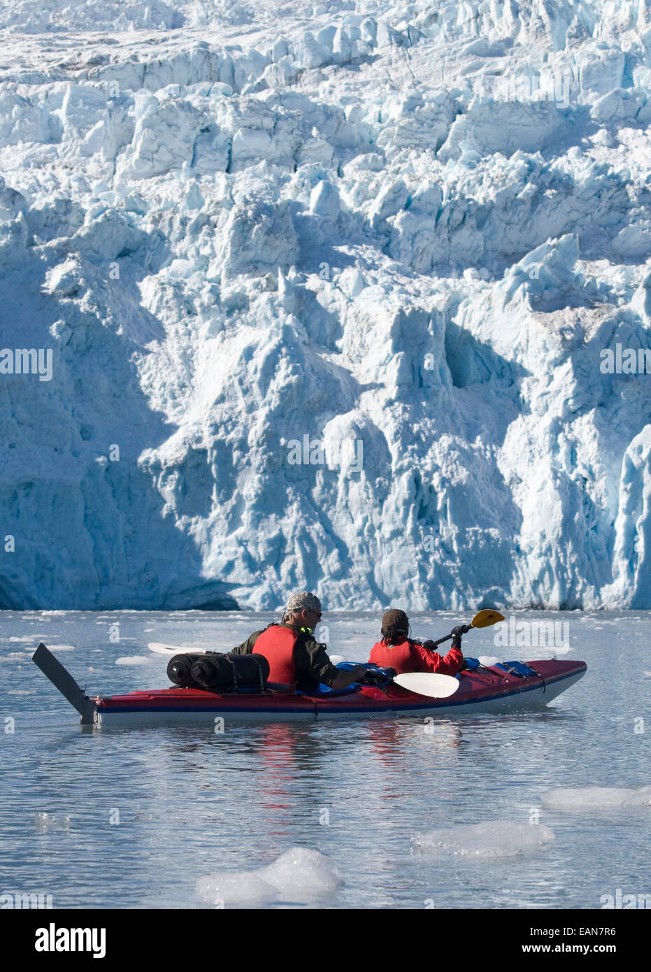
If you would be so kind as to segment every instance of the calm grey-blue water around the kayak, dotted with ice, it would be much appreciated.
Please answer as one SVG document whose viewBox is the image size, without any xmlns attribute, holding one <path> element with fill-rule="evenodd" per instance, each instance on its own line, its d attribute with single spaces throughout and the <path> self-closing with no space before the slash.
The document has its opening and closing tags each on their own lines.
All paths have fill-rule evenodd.
<svg viewBox="0 0 651 972">
<path fill-rule="evenodd" d="M 555 787 L 651 783 L 651 617 L 517 616 L 567 621 L 566 657 L 588 663 L 547 710 L 441 717 L 433 732 L 390 719 L 216 735 L 211 727 L 83 731 L 30 652 L 46 642 L 90 694 L 164 687 L 166 659 L 148 642 L 227 650 L 270 614 L 0 612 L 0 892 L 42 891 L 64 908 L 207 907 L 199 878 L 253 870 L 296 846 L 326 854 L 344 881 L 313 907 L 596 908 L 617 887 L 651 892 L 651 809 L 561 813 L 540 802 Z M 461 620 L 421 614 L 412 624 L 440 637 Z M 327 621 L 331 653 L 366 660 L 377 616 Z M 110 641 L 117 631 L 120 642 Z M 493 639 L 491 629 L 473 632 L 464 651 L 554 653 L 497 648 Z M 33 818 L 43 812 L 69 815 L 69 828 L 40 830 Z M 411 852 L 419 832 L 536 812 L 556 841 L 533 853 Z"/>
</svg>

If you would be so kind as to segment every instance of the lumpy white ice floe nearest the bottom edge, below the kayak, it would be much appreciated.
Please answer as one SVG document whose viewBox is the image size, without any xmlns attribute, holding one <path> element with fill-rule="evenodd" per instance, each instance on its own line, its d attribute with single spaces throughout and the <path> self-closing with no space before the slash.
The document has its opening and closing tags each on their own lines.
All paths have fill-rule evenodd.
<svg viewBox="0 0 651 972">
<path fill-rule="evenodd" d="M 334 893 L 342 881 L 334 864 L 319 851 L 291 848 L 273 864 L 255 871 L 220 871 L 197 882 L 201 897 L 213 904 L 313 901 Z"/>
</svg>

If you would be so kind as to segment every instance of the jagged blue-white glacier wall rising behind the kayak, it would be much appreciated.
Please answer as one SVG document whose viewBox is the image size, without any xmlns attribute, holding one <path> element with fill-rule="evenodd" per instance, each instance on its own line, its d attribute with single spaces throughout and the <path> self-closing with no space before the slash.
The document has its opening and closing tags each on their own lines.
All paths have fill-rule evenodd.
<svg viewBox="0 0 651 972">
<path fill-rule="evenodd" d="M 648 5 L 0 29 L 0 607 L 651 607 Z"/>
</svg>

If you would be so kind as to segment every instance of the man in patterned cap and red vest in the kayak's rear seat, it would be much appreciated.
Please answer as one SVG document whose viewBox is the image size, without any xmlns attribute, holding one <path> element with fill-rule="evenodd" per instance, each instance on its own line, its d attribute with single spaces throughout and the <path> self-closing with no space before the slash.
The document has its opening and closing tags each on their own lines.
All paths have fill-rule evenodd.
<svg viewBox="0 0 651 972">
<path fill-rule="evenodd" d="M 280 624 L 255 631 L 232 650 L 240 655 L 264 655 L 269 662 L 267 681 L 287 685 L 290 691 L 314 692 L 319 683 L 347 688 L 366 675 L 363 665 L 340 672 L 327 657 L 326 645 L 317 642 L 314 629 L 321 620 L 321 601 L 310 591 L 292 594 Z"/>
</svg>

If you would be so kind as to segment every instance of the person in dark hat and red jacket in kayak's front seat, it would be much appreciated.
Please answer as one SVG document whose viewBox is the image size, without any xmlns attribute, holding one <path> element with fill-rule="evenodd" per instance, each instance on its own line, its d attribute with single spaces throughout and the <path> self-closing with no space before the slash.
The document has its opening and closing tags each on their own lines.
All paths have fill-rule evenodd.
<svg viewBox="0 0 651 972">
<path fill-rule="evenodd" d="M 407 637 L 409 618 L 403 610 L 388 610 L 382 616 L 382 641 L 373 645 L 368 661 L 381 668 L 394 668 L 398 675 L 432 672 L 455 676 L 463 665 L 462 634 L 466 630 L 463 625 L 454 629 L 452 647 L 443 658 L 428 649 L 428 643 L 433 642 L 413 642 Z"/>
</svg>

